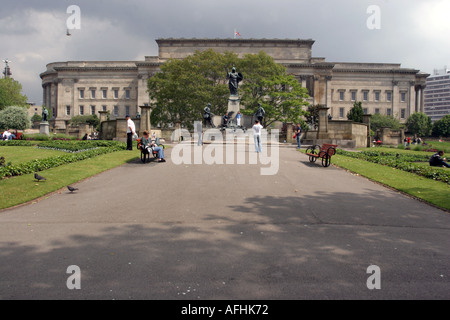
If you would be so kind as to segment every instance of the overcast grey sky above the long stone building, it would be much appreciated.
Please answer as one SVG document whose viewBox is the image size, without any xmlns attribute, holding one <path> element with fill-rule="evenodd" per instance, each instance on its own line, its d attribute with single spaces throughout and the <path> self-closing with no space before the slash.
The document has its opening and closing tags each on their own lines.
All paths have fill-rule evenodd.
<svg viewBox="0 0 450 320">
<path fill-rule="evenodd" d="M 157 55 L 155 39 L 232 38 L 234 29 L 242 38 L 313 39 L 313 56 L 329 62 L 401 63 L 428 73 L 450 68 L 450 0 L 0 0 L 0 5 L 0 58 L 12 61 L 13 78 L 37 104 L 39 74 L 50 62 L 143 60 Z M 68 37 L 70 5 L 81 9 L 81 28 Z"/>
</svg>

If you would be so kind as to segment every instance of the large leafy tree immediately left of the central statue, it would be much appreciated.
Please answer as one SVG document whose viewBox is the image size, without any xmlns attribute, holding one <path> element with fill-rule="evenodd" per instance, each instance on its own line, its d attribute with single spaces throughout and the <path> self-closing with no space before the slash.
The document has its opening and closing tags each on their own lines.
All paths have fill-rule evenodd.
<svg viewBox="0 0 450 320">
<path fill-rule="evenodd" d="M 155 107 L 152 122 L 168 125 L 179 121 L 192 127 L 194 121 L 202 118 L 208 103 L 213 114 L 225 113 L 229 95 L 226 72 L 237 60 L 234 53 L 206 50 L 166 62 L 161 72 L 148 80 L 150 99 Z"/>
</svg>

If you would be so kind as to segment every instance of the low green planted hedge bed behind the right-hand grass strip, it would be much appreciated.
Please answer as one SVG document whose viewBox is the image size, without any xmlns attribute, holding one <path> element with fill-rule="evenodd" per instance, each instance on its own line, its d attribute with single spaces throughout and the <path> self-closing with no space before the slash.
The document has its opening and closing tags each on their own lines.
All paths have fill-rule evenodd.
<svg viewBox="0 0 450 320">
<path fill-rule="evenodd" d="M 428 162 L 429 155 L 397 154 L 380 151 L 350 152 L 338 149 L 337 154 L 356 158 L 411 172 L 428 179 L 438 180 L 450 184 L 450 170 L 436 168 L 419 164 L 417 162 Z"/>
</svg>

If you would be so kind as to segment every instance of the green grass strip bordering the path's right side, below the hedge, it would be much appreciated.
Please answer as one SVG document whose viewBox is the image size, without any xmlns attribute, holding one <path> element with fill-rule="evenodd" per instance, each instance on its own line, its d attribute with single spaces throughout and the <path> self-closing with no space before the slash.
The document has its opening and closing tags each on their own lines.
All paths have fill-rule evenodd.
<svg viewBox="0 0 450 320">
<path fill-rule="evenodd" d="M 450 211 L 450 185 L 444 182 L 434 181 L 395 168 L 340 155 L 334 155 L 332 163 Z"/>
</svg>

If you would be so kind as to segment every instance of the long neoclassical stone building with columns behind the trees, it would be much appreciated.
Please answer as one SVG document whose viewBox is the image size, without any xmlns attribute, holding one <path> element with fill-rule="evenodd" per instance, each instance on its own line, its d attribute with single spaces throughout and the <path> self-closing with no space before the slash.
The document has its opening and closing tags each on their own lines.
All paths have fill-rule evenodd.
<svg viewBox="0 0 450 320">
<path fill-rule="evenodd" d="M 48 64 L 40 76 L 43 103 L 52 110 L 55 127 L 64 129 L 72 116 L 99 111 L 109 111 L 111 119 L 136 116 L 139 106 L 149 104 L 147 79 L 164 62 L 207 49 L 239 56 L 265 51 L 308 89 L 310 103 L 327 105 L 334 120 L 346 120 L 355 101 L 362 101 L 368 114 L 392 115 L 400 121 L 424 110 L 423 90 L 429 74 L 400 64 L 327 62 L 312 56 L 311 39 L 169 38 L 156 42 L 158 56 L 143 61 Z"/>
</svg>

